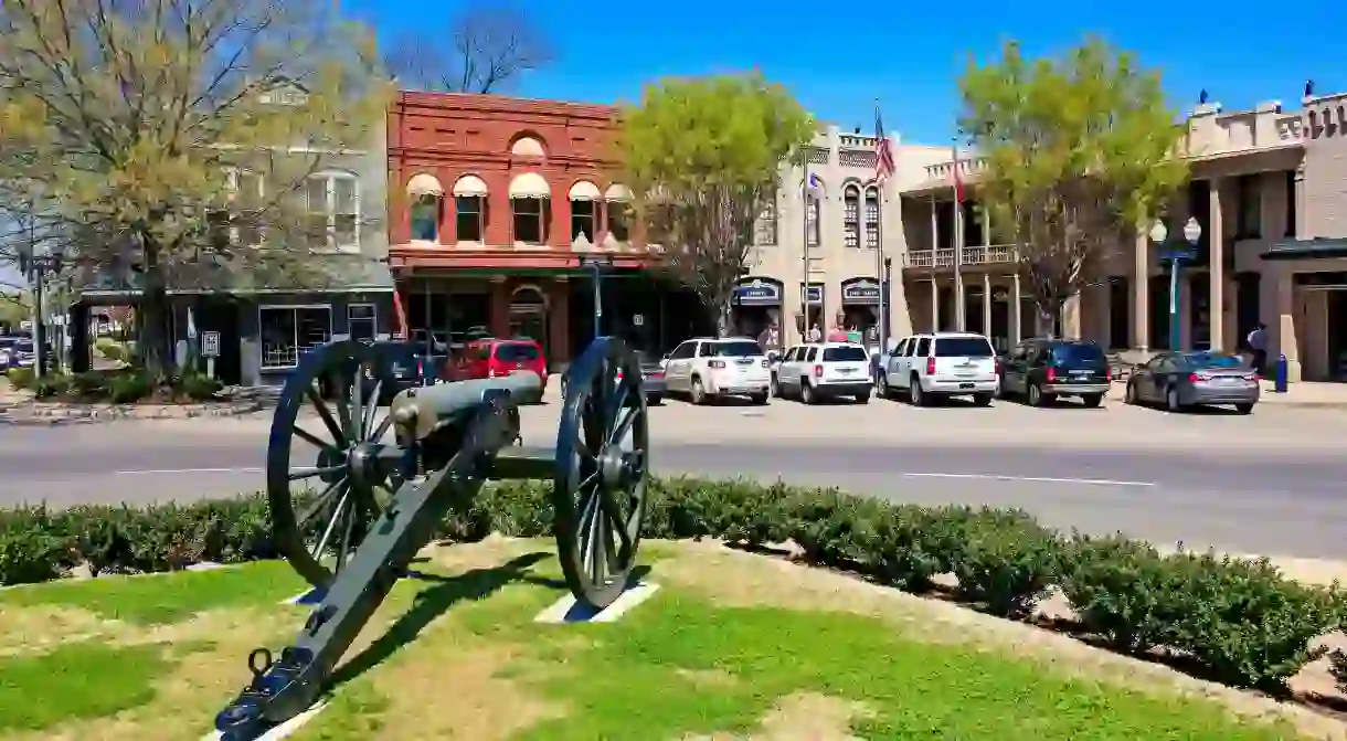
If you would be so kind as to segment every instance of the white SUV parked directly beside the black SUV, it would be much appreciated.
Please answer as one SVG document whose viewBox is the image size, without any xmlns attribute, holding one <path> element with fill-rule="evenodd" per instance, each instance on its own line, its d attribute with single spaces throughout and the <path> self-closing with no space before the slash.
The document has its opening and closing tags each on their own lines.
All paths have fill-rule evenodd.
<svg viewBox="0 0 1347 741">
<path fill-rule="evenodd" d="M 936 331 L 898 342 L 874 383 L 881 396 L 905 392 L 919 407 L 943 396 L 971 396 L 986 407 L 999 387 L 997 370 L 986 335 Z"/>
</svg>

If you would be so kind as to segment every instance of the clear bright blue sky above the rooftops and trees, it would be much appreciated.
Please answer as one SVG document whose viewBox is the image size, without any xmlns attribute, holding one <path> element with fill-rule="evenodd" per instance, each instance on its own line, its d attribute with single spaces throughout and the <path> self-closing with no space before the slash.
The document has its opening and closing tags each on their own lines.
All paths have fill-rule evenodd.
<svg viewBox="0 0 1347 741">
<path fill-rule="evenodd" d="M 1299 108 L 1307 78 L 1320 93 L 1347 90 L 1347 57 L 1331 40 L 1331 30 L 1347 27 L 1347 11 L 1331 0 L 516 1 L 531 8 L 560 54 L 513 93 L 613 102 L 637 98 L 645 81 L 661 75 L 758 67 L 788 85 L 815 116 L 843 128 L 870 129 L 878 97 L 885 128 L 909 143 L 950 141 L 955 77 L 970 55 L 994 55 L 1005 39 L 1020 40 L 1030 54 L 1052 54 L 1096 32 L 1160 67 L 1184 109 L 1203 88 L 1227 110 L 1272 98 Z M 435 28 L 438 20 L 445 27 L 459 4 L 345 3 L 389 36 L 412 24 Z M 1325 44 L 1307 43 L 1316 36 Z"/>
</svg>

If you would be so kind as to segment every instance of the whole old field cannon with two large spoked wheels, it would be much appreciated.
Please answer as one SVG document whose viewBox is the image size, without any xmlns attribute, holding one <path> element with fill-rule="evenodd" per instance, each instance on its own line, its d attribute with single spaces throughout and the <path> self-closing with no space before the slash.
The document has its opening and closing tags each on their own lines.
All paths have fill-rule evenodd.
<svg viewBox="0 0 1347 741">
<path fill-rule="evenodd" d="M 279 656 L 248 656 L 252 680 L 216 717 L 224 738 L 255 738 L 311 706 L 446 513 L 488 480 L 552 480 L 556 548 L 578 601 L 606 608 L 630 577 L 649 439 L 640 364 L 621 340 L 595 340 L 567 370 L 552 449 L 517 445 L 519 401 L 541 392 L 535 373 L 412 388 L 383 411 L 370 377 L 385 366 L 380 348 L 330 342 L 286 381 L 267 447 L 272 538 L 319 598 Z M 302 419 L 310 407 L 315 419 Z"/>
</svg>

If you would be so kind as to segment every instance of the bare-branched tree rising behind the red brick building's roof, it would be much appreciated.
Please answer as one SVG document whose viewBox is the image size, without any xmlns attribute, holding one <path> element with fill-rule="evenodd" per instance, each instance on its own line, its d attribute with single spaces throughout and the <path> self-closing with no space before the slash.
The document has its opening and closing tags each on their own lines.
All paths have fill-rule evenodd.
<svg viewBox="0 0 1347 741">
<path fill-rule="evenodd" d="M 496 93 L 552 61 L 547 34 L 511 5 L 478 0 L 453 16 L 447 31 L 407 32 L 389 47 L 388 69 L 400 86 Z"/>
</svg>

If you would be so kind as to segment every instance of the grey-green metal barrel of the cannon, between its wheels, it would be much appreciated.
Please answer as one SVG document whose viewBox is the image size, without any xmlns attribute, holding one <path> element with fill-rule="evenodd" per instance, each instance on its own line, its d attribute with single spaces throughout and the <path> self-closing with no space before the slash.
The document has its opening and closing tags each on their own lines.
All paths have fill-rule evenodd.
<svg viewBox="0 0 1347 741">
<path fill-rule="evenodd" d="M 408 388 L 393 397 L 389 412 L 399 431 L 411 439 L 426 439 L 445 423 L 453 423 L 492 400 L 508 395 L 513 404 L 543 391 L 543 379 L 532 370 L 519 370 L 498 379 L 471 379 Z"/>
</svg>

